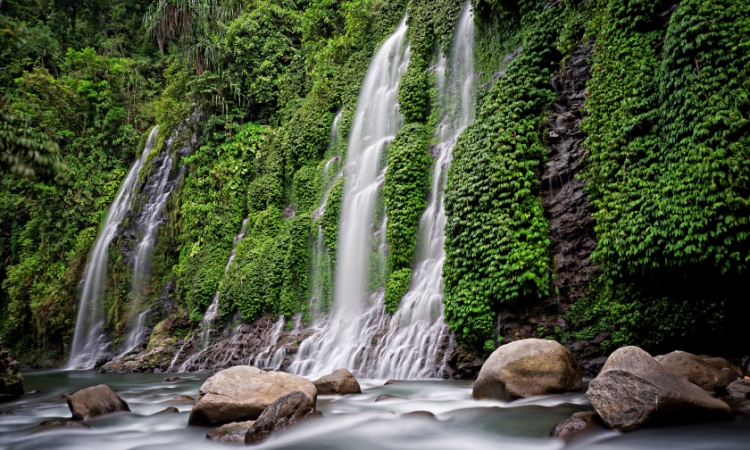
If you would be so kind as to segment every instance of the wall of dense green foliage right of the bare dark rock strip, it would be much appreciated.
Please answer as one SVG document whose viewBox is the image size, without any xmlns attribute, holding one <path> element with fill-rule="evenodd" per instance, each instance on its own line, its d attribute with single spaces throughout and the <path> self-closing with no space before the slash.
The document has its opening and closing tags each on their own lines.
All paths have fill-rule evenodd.
<svg viewBox="0 0 750 450">
<path fill-rule="evenodd" d="M 750 6 L 683 1 L 666 30 L 659 6 L 599 2 L 587 31 L 586 176 L 604 274 L 573 317 L 613 346 L 731 331 L 750 254 Z"/>
</svg>

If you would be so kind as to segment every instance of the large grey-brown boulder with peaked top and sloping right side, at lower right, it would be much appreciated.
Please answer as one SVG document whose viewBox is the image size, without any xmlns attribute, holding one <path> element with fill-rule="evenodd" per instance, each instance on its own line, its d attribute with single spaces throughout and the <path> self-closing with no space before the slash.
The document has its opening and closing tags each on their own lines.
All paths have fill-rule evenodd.
<svg viewBox="0 0 750 450">
<path fill-rule="evenodd" d="M 638 347 L 612 353 L 586 396 L 607 426 L 619 431 L 732 417 L 726 403 L 672 375 Z"/>
</svg>

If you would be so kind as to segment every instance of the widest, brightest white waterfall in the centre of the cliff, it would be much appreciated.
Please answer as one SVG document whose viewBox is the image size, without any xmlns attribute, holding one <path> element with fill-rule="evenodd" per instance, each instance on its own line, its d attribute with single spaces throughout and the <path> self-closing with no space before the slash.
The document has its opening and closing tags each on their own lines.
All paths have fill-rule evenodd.
<svg viewBox="0 0 750 450">
<path fill-rule="evenodd" d="M 368 284 L 373 266 L 385 266 L 386 218 L 378 220 L 376 210 L 382 210 L 377 200 L 385 179 L 383 151 L 403 123 L 398 86 L 409 62 L 405 44 L 404 18 L 375 54 L 360 90 L 346 154 L 332 317 L 301 344 L 289 368 L 293 373 L 356 371 L 373 324 L 385 317 L 382 287 L 373 293 Z"/>
</svg>

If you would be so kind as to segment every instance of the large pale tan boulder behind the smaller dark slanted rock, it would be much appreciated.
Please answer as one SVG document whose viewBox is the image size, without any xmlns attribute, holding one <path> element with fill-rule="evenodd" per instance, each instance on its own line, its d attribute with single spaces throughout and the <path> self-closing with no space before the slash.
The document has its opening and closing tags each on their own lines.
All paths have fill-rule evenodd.
<svg viewBox="0 0 750 450">
<path fill-rule="evenodd" d="M 307 395 L 315 407 L 318 390 L 304 378 L 250 366 L 222 370 L 201 386 L 188 425 L 219 427 L 256 420 L 276 399 L 294 391 Z"/>
</svg>

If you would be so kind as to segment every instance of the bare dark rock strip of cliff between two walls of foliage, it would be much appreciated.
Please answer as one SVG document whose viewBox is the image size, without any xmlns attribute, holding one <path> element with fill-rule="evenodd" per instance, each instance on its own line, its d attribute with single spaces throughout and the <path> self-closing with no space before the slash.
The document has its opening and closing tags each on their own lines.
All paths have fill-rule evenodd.
<svg viewBox="0 0 750 450">
<path fill-rule="evenodd" d="M 589 284 L 599 274 L 591 261 L 596 246 L 594 218 L 584 192 L 586 180 L 577 175 L 583 168 L 586 83 L 590 79 L 593 46 L 578 44 L 563 69 L 550 80 L 556 94 L 545 123 L 547 161 L 541 176 L 544 214 L 549 221 L 550 295 L 538 301 L 504 305 L 497 315 L 496 332 L 503 343 L 531 337 L 560 339 L 571 324 L 565 313 L 572 303 L 589 293 Z M 584 372 L 594 374 L 605 358 L 598 344 L 606 335 L 566 345 L 582 359 Z"/>
</svg>

